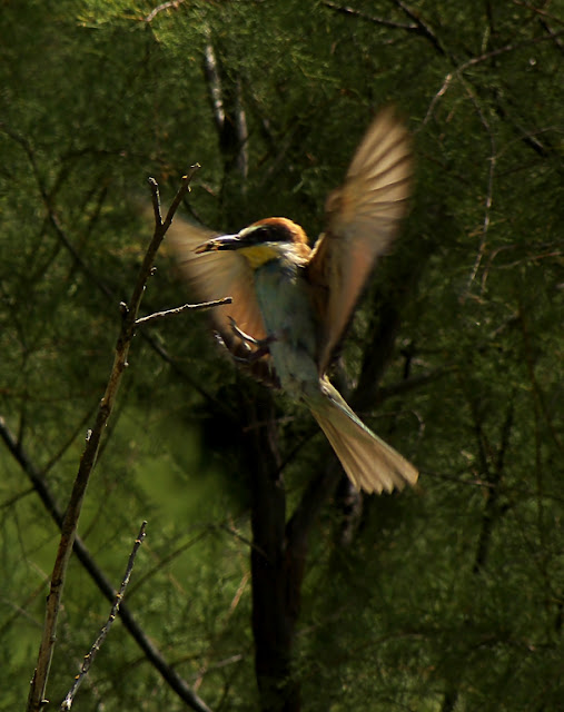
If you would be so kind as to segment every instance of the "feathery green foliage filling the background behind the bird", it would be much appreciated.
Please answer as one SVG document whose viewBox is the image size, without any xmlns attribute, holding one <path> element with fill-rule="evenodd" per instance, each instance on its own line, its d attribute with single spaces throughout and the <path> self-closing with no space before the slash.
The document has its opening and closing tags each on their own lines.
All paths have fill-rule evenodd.
<svg viewBox="0 0 564 712">
<path fill-rule="evenodd" d="M 564 693 L 561 23 L 538 3 L 346 3 L 357 13 L 338 4 L 196 1 L 150 17 L 148 2 L 3 3 L 0 416 L 63 510 L 111 365 L 118 305 L 150 233 L 138 210 L 146 178 L 168 200 L 198 161 L 188 209 L 205 224 L 287 215 L 315 237 L 373 111 L 397 103 L 414 134 L 413 210 L 346 355 L 354 385 L 384 307 L 399 305 L 388 397 L 364 415 L 417 463 L 420 486 L 366 502 L 349 544 L 338 498 L 325 507 L 293 662 L 303 706 L 555 711 Z M 241 147 L 214 120 L 209 46 L 228 123 L 245 111 L 246 175 Z M 186 298 L 172 271 L 164 254 L 147 313 Z M 126 601 L 217 712 L 258 706 L 238 427 L 255 392 L 206 326 L 195 313 L 137 335 L 80 536 L 118 586 L 149 521 Z M 329 455 L 301 411 L 277 405 L 291 511 Z M 8 710 L 27 696 L 58 530 L 3 444 L 0 473 Z M 72 560 L 53 704 L 108 611 Z M 181 703 L 117 624 L 76 704 Z"/>
</svg>

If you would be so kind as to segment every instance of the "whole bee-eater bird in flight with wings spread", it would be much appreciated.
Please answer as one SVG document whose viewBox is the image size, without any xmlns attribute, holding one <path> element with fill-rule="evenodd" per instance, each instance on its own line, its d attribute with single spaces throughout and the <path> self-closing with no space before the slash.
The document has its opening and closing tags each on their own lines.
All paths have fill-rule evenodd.
<svg viewBox="0 0 564 712">
<path fill-rule="evenodd" d="M 377 257 L 406 211 L 409 136 L 392 109 L 374 120 L 345 181 L 325 206 L 314 248 L 287 218 L 266 218 L 237 235 L 175 219 L 168 233 L 184 276 L 212 309 L 232 356 L 267 385 L 311 411 L 345 472 L 365 492 L 415 484 L 417 471 L 375 435 L 329 383 L 326 372 Z"/>
</svg>

